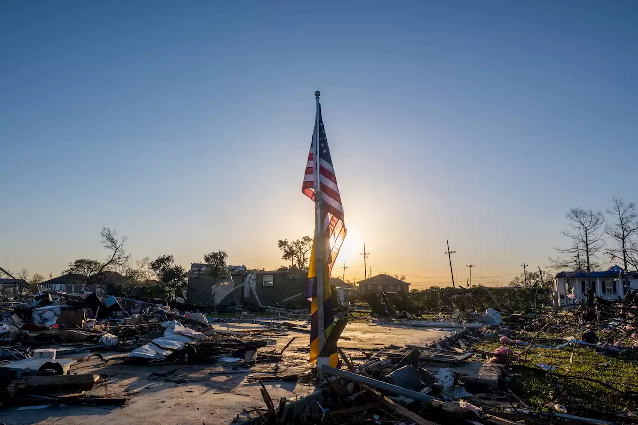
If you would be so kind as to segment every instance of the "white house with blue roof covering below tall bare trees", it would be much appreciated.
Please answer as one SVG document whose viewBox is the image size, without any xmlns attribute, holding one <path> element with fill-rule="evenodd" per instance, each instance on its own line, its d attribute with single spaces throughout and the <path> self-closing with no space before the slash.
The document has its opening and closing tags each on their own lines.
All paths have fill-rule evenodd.
<svg viewBox="0 0 638 425">
<path fill-rule="evenodd" d="M 587 298 L 590 289 L 597 297 L 606 300 L 623 299 L 628 288 L 638 290 L 638 272 L 623 272 L 622 267 L 612 265 L 605 271 L 563 271 L 556 274 L 554 302 L 557 306 L 571 304 Z M 574 294 L 568 296 L 569 294 Z"/>
</svg>

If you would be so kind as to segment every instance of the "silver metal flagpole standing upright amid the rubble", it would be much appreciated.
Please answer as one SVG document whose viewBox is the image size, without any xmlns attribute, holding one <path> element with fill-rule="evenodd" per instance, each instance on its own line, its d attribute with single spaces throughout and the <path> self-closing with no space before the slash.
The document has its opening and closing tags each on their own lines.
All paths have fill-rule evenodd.
<svg viewBox="0 0 638 425">
<path fill-rule="evenodd" d="M 315 114 L 315 258 L 316 258 L 316 290 L 317 290 L 317 331 L 318 331 L 318 343 L 319 351 L 321 354 L 323 345 L 325 344 L 325 317 L 323 312 L 323 255 L 325 254 L 325 243 L 323 241 L 323 223 L 322 223 L 322 197 L 321 197 L 321 184 L 319 180 L 319 158 L 320 158 L 320 145 L 321 140 L 321 128 L 319 120 L 319 96 L 320 91 L 315 91 L 316 100 L 316 114 Z M 319 372 L 321 374 L 321 371 Z"/>
</svg>

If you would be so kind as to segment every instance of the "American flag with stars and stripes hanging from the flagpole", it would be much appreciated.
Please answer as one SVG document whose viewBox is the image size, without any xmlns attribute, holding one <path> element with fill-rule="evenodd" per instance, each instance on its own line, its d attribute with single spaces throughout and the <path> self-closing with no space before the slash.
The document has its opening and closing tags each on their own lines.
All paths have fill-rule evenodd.
<svg viewBox="0 0 638 425">
<path fill-rule="evenodd" d="M 330 148 L 328 147 L 328 137 L 323 126 L 323 117 L 321 114 L 321 106 L 319 107 L 319 176 L 320 176 L 320 194 L 323 200 L 323 231 L 329 237 L 330 246 L 327 250 L 327 260 L 329 275 L 332 272 L 332 265 L 337 260 L 337 255 L 341 249 L 341 244 L 346 237 L 348 229 L 343 221 L 343 205 L 341 204 L 341 194 L 337 184 L 337 177 L 332 167 L 332 156 L 330 156 Z M 316 124 L 313 130 L 313 141 L 316 136 Z M 310 144 L 310 152 L 308 153 L 308 162 L 306 163 L 306 172 L 304 173 L 304 181 L 301 185 L 301 191 L 311 200 L 315 200 L 315 145 Z"/>
</svg>

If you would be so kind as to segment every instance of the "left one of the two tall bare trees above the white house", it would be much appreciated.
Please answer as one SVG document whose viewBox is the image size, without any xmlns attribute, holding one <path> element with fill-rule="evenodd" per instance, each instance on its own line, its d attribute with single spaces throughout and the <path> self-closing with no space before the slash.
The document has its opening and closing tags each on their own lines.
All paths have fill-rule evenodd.
<svg viewBox="0 0 638 425">
<path fill-rule="evenodd" d="M 572 245 L 564 249 L 556 248 L 558 257 L 550 260 L 554 267 L 574 264 L 581 268 L 584 266 L 589 278 L 591 271 L 600 265 L 597 256 L 604 246 L 600 228 L 605 223 L 605 217 L 600 211 L 572 208 L 566 218 L 570 223 L 562 233 L 572 241 Z"/>
</svg>

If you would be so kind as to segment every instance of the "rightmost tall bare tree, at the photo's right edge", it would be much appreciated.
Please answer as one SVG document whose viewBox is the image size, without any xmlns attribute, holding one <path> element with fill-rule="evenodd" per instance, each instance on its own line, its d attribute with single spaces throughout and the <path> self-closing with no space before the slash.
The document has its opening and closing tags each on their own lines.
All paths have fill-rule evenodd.
<svg viewBox="0 0 638 425">
<path fill-rule="evenodd" d="M 623 270 L 627 270 L 627 263 L 632 260 L 632 246 L 634 236 L 638 234 L 635 203 L 625 204 L 618 198 L 613 198 L 614 206 L 607 210 L 607 214 L 614 218 L 614 222 L 605 226 L 605 234 L 611 239 L 612 246 L 605 250 L 607 255 L 619 258 L 623 262 Z"/>
</svg>

